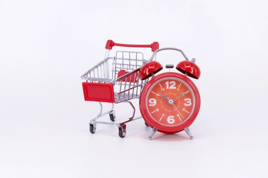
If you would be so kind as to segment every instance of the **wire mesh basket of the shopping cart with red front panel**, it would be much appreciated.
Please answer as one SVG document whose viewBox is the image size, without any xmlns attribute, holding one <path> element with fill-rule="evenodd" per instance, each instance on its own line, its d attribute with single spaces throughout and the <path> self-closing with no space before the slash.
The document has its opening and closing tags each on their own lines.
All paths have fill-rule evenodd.
<svg viewBox="0 0 268 178">
<path fill-rule="evenodd" d="M 116 51 L 114 57 L 106 53 L 105 59 L 86 71 L 81 78 L 86 101 L 120 103 L 139 98 L 148 80 L 140 80 L 140 67 L 144 55 L 136 51 Z"/>
</svg>

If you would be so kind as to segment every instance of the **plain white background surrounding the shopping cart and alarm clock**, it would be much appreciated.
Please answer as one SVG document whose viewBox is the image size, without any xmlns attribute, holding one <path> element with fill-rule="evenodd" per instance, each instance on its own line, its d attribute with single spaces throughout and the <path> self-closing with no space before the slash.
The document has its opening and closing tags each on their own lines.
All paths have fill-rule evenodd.
<svg viewBox="0 0 268 178">
<path fill-rule="evenodd" d="M 267 9 L 267 1 L 1 0 L 0 177 L 267 177 Z M 106 125 L 90 134 L 99 106 L 83 100 L 80 75 L 103 59 L 108 39 L 158 41 L 196 58 L 194 140 L 181 132 L 149 141 L 143 120 L 123 139 Z M 181 60 L 158 55 L 162 65 Z M 117 121 L 131 111 L 115 110 Z"/>
</svg>

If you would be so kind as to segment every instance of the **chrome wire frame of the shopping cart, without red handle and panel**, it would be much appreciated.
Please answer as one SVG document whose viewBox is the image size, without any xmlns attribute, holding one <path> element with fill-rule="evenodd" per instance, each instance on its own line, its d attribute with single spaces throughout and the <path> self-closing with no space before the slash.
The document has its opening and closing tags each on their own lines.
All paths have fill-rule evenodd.
<svg viewBox="0 0 268 178">
<path fill-rule="evenodd" d="M 133 112 L 128 120 L 122 123 L 97 121 L 98 118 L 106 114 L 110 114 L 110 117 L 113 115 L 115 118 L 114 104 L 111 103 L 111 109 L 103 112 L 103 104 L 99 102 L 101 110 L 97 116 L 89 122 L 89 125 L 93 125 L 94 131 L 96 130 L 96 124 L 114 125 L 122 129 L 125 134 L 126 123 L 142 118 L 142 116 L 134 117 L 136 109 L 129 100 L 138 99 L 140 97 L 142 88 L 149 79 L 140 80 L 139 77 L 140 67 L 145 63 L 142 52 L 117 51 L 114 57 L 110 57 L 109 52 L 110 50 L 107 50 L 105 59 L 82 74 L 81 78 L 87 82 L 113 83 L 114 103 L 126 102 L 132 107 Z M 109 66 L 109 64 L 112 66 Z M 124 70 L 125 74 L 117 77 L 119 71 L 122 70 Z"/>
</svg>

